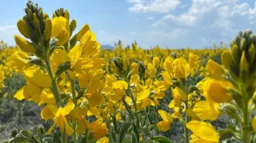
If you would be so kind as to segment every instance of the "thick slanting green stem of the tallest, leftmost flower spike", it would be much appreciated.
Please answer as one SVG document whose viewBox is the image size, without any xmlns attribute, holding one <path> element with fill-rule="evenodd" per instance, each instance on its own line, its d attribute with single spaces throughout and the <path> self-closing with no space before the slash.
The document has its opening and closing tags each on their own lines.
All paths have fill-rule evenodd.
<svg viewBox="0 0 256 143">
<path fill-rule="evenodd" d="M 61 99 L 60 99 L 60 94 L 59 94 L 59 90 L 58 90 L 58 87 L 57 87 L 56 79 L 53 76 L 53 70 L 51 69 L 49 57 L 46 58 L 45 64 L 46 64 L 48 74 L 51 77 L 51 88 L 52 88 L 51 90 L 53 91 L 55 101 L 58 104 L 61 101 Z"/>
</svg>

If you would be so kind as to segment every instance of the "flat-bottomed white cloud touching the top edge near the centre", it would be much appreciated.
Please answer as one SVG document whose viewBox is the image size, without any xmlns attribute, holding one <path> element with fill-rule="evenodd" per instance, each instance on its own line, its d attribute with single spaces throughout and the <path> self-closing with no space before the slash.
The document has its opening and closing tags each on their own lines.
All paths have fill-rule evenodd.
<svg viewBox="0 0 256 143">
<path fill-rule="evenodd" d="M 167 13 L 175 9 L 180 0 L 127 0 L 134 5 L 129 7 L 130 12 L 158 12 Z"/>
</svg>

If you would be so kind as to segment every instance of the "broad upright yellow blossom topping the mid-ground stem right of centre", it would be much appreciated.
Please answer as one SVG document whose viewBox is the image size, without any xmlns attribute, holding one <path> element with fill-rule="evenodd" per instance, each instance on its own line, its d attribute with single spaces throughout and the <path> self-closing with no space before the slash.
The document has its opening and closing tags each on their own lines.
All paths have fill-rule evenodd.
<svg viewBox="0 0 256 143">
<path fill-rule="evenodd" d="M 176 79 L 187 79 L 190 74 L 190 67 L 187 60 L 183 57 L 177 58 L 172 63 L 173 67 L 173 76 Z"/>
</svg>

